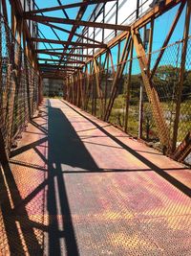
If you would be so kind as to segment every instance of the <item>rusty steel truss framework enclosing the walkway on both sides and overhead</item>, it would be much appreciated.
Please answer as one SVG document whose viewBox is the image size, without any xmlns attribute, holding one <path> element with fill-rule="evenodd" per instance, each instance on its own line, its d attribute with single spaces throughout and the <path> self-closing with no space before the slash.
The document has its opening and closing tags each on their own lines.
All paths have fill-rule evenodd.
<svg viewBox="0 0 191 256">
<path fill-rule="evenodd" d="M 133 90 L 132 80 L 135 79 L 132 66 L 134 63 L 137 63 L 140 83 L 142 85 L 141 89 L 136 91 L 136 93 L 140 95 L 138 97 L 138 137 L 144 137 L 143 125 L 146 115 L 148 114 L 145 112 L 145 109 L 148 108 L 151 112 L 151 119 L 155 124 L 155 128 L 151 130 L 148 121 L 145 124 L 145 137 L 149 139 L 149 136 L 151 137 L 151 131 L 155 132 L 163 152 L 177 160 L 182 161 L 187 155 L 189 155 L 191 151 L 190 122 L 187 122 L 186 125 L 181 122 L 181 119 L 184 118 L 184 115 L 187 116 L 189 113 L 181 113 L 181 111 L 185 104 L 182 100 L 182 93 L 184 91 L 183 86 L 185 84 L 185 73 L 187 72 L 186 74 L 190 74 L 188 72 L 190 63 L 187 63 L 186 65 L 186 61 L 189 61 L 188 59 L 190 56 L 190 1 L 165 0 L 161 5 L 156 5 L 153 8 L 147 10 L 147 12 L 141 12 L 140 14 L 140 9 L 143 8 L 144 4 L 148 1 L 144 1 L 140 4 L 140 1 L 137 0 L 137 10 L 133 13 L 135 19 L 133 22 L 129 22 L 129 24 L 118 24 L 117 20 L 116 24 L 111 24 L 105 21 L 105 5 L 108 2 L 115 3 L 117 12 L 117 0 L 83 0 L 78 3 L 71 1 L 71 4 L 67 5 L 63 5 L 59 0 L 57 0 L 57 6 L 43 9 L 39 9 L 35 1 L 32 0 L 10 0 L 10 2 L 11 35 L 8 25 L 4 25 L 4 23 L 9 23 L 7 1 L 1 1 L 1 27 L 5 27 L 5 34 L 7 39 L 6 47 L 7 49 L 11 50 L 11 43 L 13 40 L 10 36 L 15 38 L 18 45 L 22 45 L 23 54 L 31 65 L 29 68 L 30 70 L 34 70 L 37 76 L 35 78 L 35 86 L 37 87 L 36 92 L 38 91 L 38 104 L 42 99 L 43 78 L 58 78 L 64 81 L 64 98 L 67 101 L 87 111 L 90 111 L 92 114 L 108 122 L 114 114 L 115 101 L 119 94 L 121 81 L 123 80 L 124 84 L 122 87 L 125 91 L 123 93 L 125 110 L 123 116 L 123 124 L 121 124 L 120 116 L 118 115 L 117 125 L 123 128 L 126 132 L 131 133 L 131 126 L 129 126 L 131 121 L 131 93 Z M 26 8 L 29 6 L 29 3 L 30 8 Z M 84 20 L 83 16 L 89 6 L 94 6 L 93 14 L 90 19 Z M 155 53 L 152 53 L 155 20 L 164 12 L 169 12 L 176 6 L 178 6 L 178 11 L 171 26 L 169 27 L 169 31 L 163 41 L 163 45 L 156 55 Z M 76 13 L 76 18 L 71 19 L 67 13 L 67 10 L 74 8 L 78 8 L 78 12 Z M 53 16 L 54 11 L 60 10 L 63 12 L 63 17 Z M 164 86 L 164 82 L 162 83 L 161 80 L 159 81 L 158 79 L 159 76 L 161 76 L 161 62 L 162 59 L 165 58 L 166 52 L 173 51 L 173 49 L 176 48 L 176 46 L 169 48 L 168 44 L 180 20 L 180 15 L 183 13 L 183 10 L 186 10 L 184 14 L 185 22 L 183 28 L 183 37 L 180 40 L 179 47 L 177 48 L 176 52 L 178 53 L 179 51 L 180 54 L 180 58 L 177 60 L 179 65 L 177 64 L 177 69 L 174 69 L 173 75 L 175 76 L 175 73 L 178 73 L 178 76 L 176 77 L 176 81 L 173 83 L 173 92 L 171 89 L 169 89 L 171 96 L 169 96 L 168 100 L 165 99 L 164 101 L 162 94 L 164 96 L 168 86 L 166 84 Z M 48 15 L 50 12 L 52 13 L 51 16 Z M 100 13 L 102 13 L 103 19 L 101 22 L 98 22 L 96 18 L 100 15 Z M 42 33 L 40 34 L 37 29 L 38 23 L 51 28 L 53 34 L 56 36 L 56 39 L 47 38 L 44 35 L 41 36 Z M 64 28 L 64 24 L 72 25 L 71 30 Z M 148 27 L 149 40 L 146 51 L 145 42 L 142 39 L 140 31 L 143 30 L 146 33 Z M 77 32 L 78 28 L 81 28 L 81 33 Z M 94 36 L 88 36 L 90 28 L 94 30 Z M 100 41 L 96 39 L 96 29 L 99 29 L 103 35 L 102 40 Z M 105 30 L 113 31 L 113 38 L 109 41 L 104 40 Z M 68 35 L 68 39 L 63 40 L 60 38 L 58 35 L 59 31 Z M 47 46 L 43 49 L 39 48 L 39 43 L 44 43 L 45 45 L 49 44 L 50 48 L 47 48 Z M 60 47 L 56 48 L 53 46 L 54 44 L 60 45 Z M 116 65 L 114 64 L 115 61 L 112 55 L 112 49 L 114 49 L 114 47 L 117 49 Z M 134 52 L 136 52 L 136 57 L 134 57 Z M 19 58 L 19 53 L 20 52 L 18 51 L 18 53 L 15 53 L 12 57 L 10 51 L 10 62 L 8 63 L 11 63 L 11 69 L 8 69 L 7 76 L 10 76 L 9 72 L 12 73 L 12 70 L 16 70 L 15 81 L 19 81 L 21 78 L 20 71 L 22 67 L 22 61 L 19 62 L 17 60 Z M 41 54 L 47 55 L 49 57 L 42 58 Z M 171 62 L 172 61 L 173 60 L 171 60 Z M 166 60 L 166 66 L 168 65 L 168 62 L 169 61 Z M 2 63 L 3 58 L 1 57 L 1 66 Z M 125 72 L 126 76 L 124 76 Z M 165 76 L 168 76 L 168 74 Z M 27 92 L 30 90 L 29 86 L 33 86 L 29 84 L 34 84 L 32 81 L 33 77 L 26 73 Z M 19 82 L 15 82 L 15 85 L 13 85 L 15 87 L 15 94 L 12 94 L 12 99 L 14 99 L 14 97 L 18 98 L 18 84 Z M 142 101 L 143 94 L 145 97 L 145 102 Z M 26 95 L 28 95 L 28 101 L 30 101 L 30 94 L 28 93 Z M 171 113 L 171 119 L 169 121 L 166 118 L 169 109 L 165 110 L 164 106 L 170 103 L 173 105 L 173 116 Z M 142 106 L 143 104 L 145 104 L 144 110 Z M 189 102 L 186 102 L 186 104 L 189 108 Z M 29 105 L 29 111 L 31 111 L 31 105 Z M 1 110 L 3 111 L 3 106 L 1 105 L 1 107 Z M 11 117 L 14 107 L 15 105 L 13 105 L 12 109 L 9 110 Z M 5 116 L 7 115 L 7 113 L 4 114 Z M 29 119 L 30 116 L 26 120 Z M 182 128 L 182 123 L 185 125 L 184 128 Z M 182 128 L 181 136 L 179 134 L 180 128 Z M 11 131 L 8 131 L 7 133 L 9 133 L 8 137 L 12 136 L 12 127 Z M 5 138 L 3 138 L 4 136 L 2 134 L 1 137 L 1 144 L 3 145 L 5 144 Z M 11 142 L 9 142 L 9 145 L 6 145 L 6 147 L 8 148 L 8 151 L 10 151 Z M 1 149 L 6 149 L 6 147 L 1 147 Z M 1 155 L 4 155 L 2 159 L 4 158 L 5 160 L 6 152 L 4 153 L 2 150 Z"/>
</svg>

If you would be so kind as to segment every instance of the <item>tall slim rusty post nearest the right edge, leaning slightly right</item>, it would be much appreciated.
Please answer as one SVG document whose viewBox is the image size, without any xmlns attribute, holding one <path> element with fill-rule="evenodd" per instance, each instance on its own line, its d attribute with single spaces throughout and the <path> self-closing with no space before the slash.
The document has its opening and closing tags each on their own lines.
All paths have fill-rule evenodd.
<svg viewBox="0 0 191 256">
<path fill-rule="evenodd" d="M 183 42 L 182 42 L 182 51 L 181 51 L 181 62 L 180 62 L 180 79 L 179 79 L 179 86 L 178 86 L 175 123 L 174 123 L 174 130 L 173 130 L 172 151 L 176 150 L 177 138 L 178 138 L 178 129 L 179 129 L 179 121 L 180 121 L 180 105 L 181 105 L 182 87 L 183 87 L 184 72 L 185 72 L 187 41 L 188 41 L 188 34 L 189 34 L 189 27 L 190 27 L 190 11 L 191 11 L 191 2 L 187 1 Z"/>
</svg>

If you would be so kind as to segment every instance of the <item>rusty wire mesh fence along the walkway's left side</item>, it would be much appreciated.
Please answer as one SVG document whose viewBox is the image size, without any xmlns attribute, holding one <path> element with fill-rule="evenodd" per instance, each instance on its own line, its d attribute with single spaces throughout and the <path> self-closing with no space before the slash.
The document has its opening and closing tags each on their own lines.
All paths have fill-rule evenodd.
<svg viewBox="0 0 191 256">
<path fill-rule="evenodd" d="M 0 128 L 6 150 L 24 130 L 38 101 L 38 75 L 0 17 Z"/>
</svg>

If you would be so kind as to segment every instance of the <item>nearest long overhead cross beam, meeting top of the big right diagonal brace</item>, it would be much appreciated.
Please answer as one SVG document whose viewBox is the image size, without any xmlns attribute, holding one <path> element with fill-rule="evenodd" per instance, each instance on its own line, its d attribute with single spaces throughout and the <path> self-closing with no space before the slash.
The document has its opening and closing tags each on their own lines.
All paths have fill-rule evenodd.
<svg viewBox="0 0 191 256">
<path fill-rule="evenodd" d="M 130 26 L 125 26 L 125 25 L 116 25 L 116 24 L 109 24 L 109 23 L 100 23 L 100 22 L 93 22 L 93 21 L 75 20 L 75 19 L 58 18 L 58 17 L 50 17 L 50 16 L 25 14 L 23 15 L 23 18 L 33 20 L 36 22 L 44 21 L 44 22 L 84 26 L 84 27 L 101 28 L 101 29 L 108 29 L 108 30 L 119 30 L 119 31 L 130 30 Z"/>
</svg>

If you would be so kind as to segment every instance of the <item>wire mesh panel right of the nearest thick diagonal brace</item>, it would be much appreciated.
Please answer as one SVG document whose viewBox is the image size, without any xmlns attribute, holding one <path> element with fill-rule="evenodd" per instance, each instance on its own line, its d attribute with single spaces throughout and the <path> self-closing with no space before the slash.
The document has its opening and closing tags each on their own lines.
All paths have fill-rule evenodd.
<svg viewBox="0 0 191 256">
<path fill-rule="evenodd" d="M 191 130 L 191 37 L 188 38 L 185 72 L 183 74 L 183 83 L 180 90 L 182 47 L 183 41 L 176 42 L 166 47 L 153 78 L 153 84 L 159 95 L 163 117 L 167 124 L 171 141 L 174 139 L 173 134 L 177 105 L 179 102 L 179 94 L 181 94 L 178 136 L 177 141 L 175 141 L 177 147 Z M 158 57 L 159 51 L 151 55 L 151 70 Z M 190 156 L 188 156 L 185 161 L 190 164 L 190 160 Z"/>
</svg>

